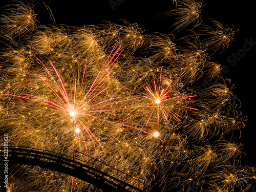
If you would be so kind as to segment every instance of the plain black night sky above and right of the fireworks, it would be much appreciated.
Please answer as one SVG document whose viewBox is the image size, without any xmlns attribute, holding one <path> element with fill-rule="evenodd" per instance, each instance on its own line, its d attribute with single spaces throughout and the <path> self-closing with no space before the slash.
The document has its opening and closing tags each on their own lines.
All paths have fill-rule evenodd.
<svg viewBox="0 0 256 192">
<path fill-rule="evenodd" d="M 7 5 L 7 2 L 0 0 L 0 7 Z M 42 25 L 52 24 L 49 12 L 41 0 L 24 0 L 22 2 L 31 2 L 34 5 L 37 20 Z M 175 8 L 172 0 L 45 0 L 44 2 L 50 7 L 56 23 L 68 26 L 98 25 L 102 24 L 104 20 L 122 24 L 120 19 L 125 19 L 129 23 L 137 23 L 142 30 L 145 30 L 145 34 L 153 32 L 168 34 L 171 31 L 169 27 L 175 23 L 174 17 L 162 18 L 163 15 L 158 16 Z M 114 7 L 114 10 L 110 2 L 118 4 Z M 243 158 L 243 164 L 254 165 L 256 164 L 254 160 L 256 156 L 256 126 L 254 123 L 256 120 L 256 10 L 252 4 L 245 1 L 205 0 L 201 2 L 204 2 L 201 11 L 203 21 L 212 18 L 224 25 L 233 25 L 234 31 L 239 30 L 235 33 L 234 41 L 228 50 L 222 54 L 217 53 L 212 56 L 210 61 L 227 66 L 228 72 L 223 77 L 231 79 L 231 84 L 236 87 L 233 93 L 242 103 L 240 111 L 248 117 L 245 128 L 241 130 L 242 136 L 238 139 L 239 142 L 244 144 L 244 152 L 247 154 Z M 1 12 L 3 12 L 3 9 Z M 232 63 L 228 62 L 227 58 L 243 49 L 246 43 L 245 39 L 251 39 L 255 42 L 255 45 L 252 45 L 250 51 L 246 51 L 240 60 L 237 60 L 236 65 L 231 65 Z"/>
</svg>

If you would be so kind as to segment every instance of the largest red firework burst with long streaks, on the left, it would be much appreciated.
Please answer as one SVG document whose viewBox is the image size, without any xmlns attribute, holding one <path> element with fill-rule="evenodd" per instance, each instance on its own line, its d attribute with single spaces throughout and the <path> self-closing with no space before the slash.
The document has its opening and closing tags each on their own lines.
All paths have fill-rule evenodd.
<svg viewBox="0 0 256 192">
<path fill-rule="evenodd" d="M 117 65 L 117 58 L 119 57 L 119 55 L 121 53 L 118 53 L 121 49 L 122 45 L 119 46 L 116 51 L 115 47 L 113 48 L 113 50 L 111 51 L 110 55 L 108 56 L 108 58 L 106 59 L 103 67 L 101 68 L 101 70 L 98 72 L 96 78 L 94 79 L 93 83 L 91 84 L 88 92 L 86 93 L 86 95 L 82 98 L 82 100 L 77 103 L 76 102 L 76 93 L 77 93 L 77 80 L 74 79 L 74 92 L 73 93 L 68 93 L 67 89 L 65 88 L 65 85 L 59 75 L 59 73 L 57 72 L 56 68 L 54 67 L 53 63 L 51 62 L 51 60 L 49 60 L 51 67 L 54 69 L 55 75 L 57 77 L 54 78 L 54 74 L 52 74 L 49 69 L 46 67 L 46 65 L 37 57 L 35 57 L 42 66 L 44 66 L 45 70 L 47 71 L 47 73 L 51 76 L 51 83 L 54 84 L 54 87 L 57 88 L 58 91 L 55 91 L 53 89 L 53 87 L 50 85 L 51 83 L 49 82 L 49 79 L 45 80 L 44 78 L 42 78 L 40 75 L 30 71 L 31 73 L 33 73 L 34 75 L 36 75 L 41 81 L 43 81 L 46 86 L 48 87 L 48 89 L 50 89 L 53 94 L 56 97 L 56 101 L 51 101 L 42 97 L 38 97 L 36 95 L 30 95 L 30 94 L 24 94 L 24 96 L 19 96 L 19 95 L 11 95 L 11 94 L 1 94 L 1 95 L 9 95 L 9 96 L 14 96 L 14 97 L 18 97 L 18 98 L 22 98 L 22 99 L 26 99 L 26 100 L 33 100 L 45 105 L 50 106 L 51 108 L 54 108 L 56 110 L 60 110 L 65 114 L 69 114 L 70 116 L 72 116 L 72 118 L 74 119 L 74 124 L 77 130 L 77 135 L 78 135 L 78 142 L 79 142 L 79 146 L 80 146 L 80 137 L 82 137 L 82 140 L 86 146 L 86 152 L 88 153 L 88 149 L 87 149 L 87 144 L 86 144 L 86 140 L 84 139 L 84 135 L 83 132 L 86 132 L 90 139 L 93 142 L 94 145 L 94 149 L 96 151 L 96 146 L 95 146 L 95 141 L 100 145 L 103 153 L 104 149 L 103 146 L 100 144 L 99 140 L 94 136 L 94 134 L 90 131 L 90 129 L 88 128 L 88 126 L 86 124 L 84 124 L 81 120 L 79 120 L 79 116 L 81 115 L 85 115 L 85 116 L 90 116 L 94 119 L 97 119 L 94 115 L 91 115 L 90 113 L 95 113 L 95 112 L 115 112 L 113 110 L 108 110 L 108 109 L 99 109 L 99 110 L 87 110 L 87 111 L 81 111 L 81 109 L 83 108 L 83 106 L 87 106 L 87 109 L 92 108 L 93 106 L 98 107 L 97 105 L 100 105 L 102 103 L 108 102 L 110 100 L 113 99 L 120 99 L 121 97 L 115 97 L 115 98 L 110 98 L 110 99 L 106 99 L 106 100 L 102 100 L 100 102 L 97 102 L 96 104 L 92 104 L 90 105 L 90 102 L 93 101 L 96 97 L 99 97 L 99 95 L 101 95 L 102 93 L 104 93 L 106 90 L 108 90 L 110 87 L 106 87 L 102 90 L 97 90 L 97 88 L 99 88 L 99 86 L 102 84 L 102 82 L 106 79 L 106 77 L 108 77 L 108 75 L 111 73 L 111 71 L 113 71 L 113 69 L 116 67 Z M 83 71 L 83 76 L 82 76 L 82 80 L 81 80 L 81 86 L 79 88 L 79 90 L 82 89 L 83 86 L 83 82 L 84 82 L 84 77 L 86 74 L 86 69 L 87 69 L 87 60 L 86 63 L 84 65 L 84 71 Z M 57 82 L 57 80 L 59 81 L 59 83 Z M 57 93 L 59 92 L 59 94 Z M 28 97 L 29 96 L 29 97 Z M 71 101 L 73 98 L 73 101 Z M 38 100 L 39 99 L 39 100 Z M 67 107 L 68 106 L 68 107 Z M 105 105 L 100 105 L 101 106 L 105 106 Z M 117 123 L 117 122 L 113 122 L 113 121 L 108 121 L 108 120 L 103 120 L 103 119 L 99 119 L 102 121 L 106 121 L 106 122 L 111 122 L 111 123 L 115 123 L 115 124 L 119 124 L 122 126 L 126 126 L 126 127 L 131 127 L 133 129 L 139 130 L 136 127 L 133 126 L 129 126 L 129 125 L 125 125 L 125 124 L 121 124 L 121 123 Z M 144 133 L 147 133 L 145 131 L 143 131 Z M 147 133 L 150 134 L 150 133 Z M 151 134 L 150 134 L 151 135 Z M 94 141 L 95 140 L 95 141 Z"/>
</svg>

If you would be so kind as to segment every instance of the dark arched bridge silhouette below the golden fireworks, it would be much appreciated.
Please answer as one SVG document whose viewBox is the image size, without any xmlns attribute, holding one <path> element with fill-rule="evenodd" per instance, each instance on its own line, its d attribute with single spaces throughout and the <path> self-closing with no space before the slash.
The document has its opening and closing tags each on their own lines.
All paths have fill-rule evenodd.
<svg viewBox="0 0 256 192">
<path fill-rule="evenodd" d="M 78 158 L 67 155 L 29 147 L 8 147 L 7 159 L 5 159 L 7 154 L 5 152 L 4 147 L 0 146 L 1 191 L 6 191 L 6 188 L 3 186 L 5 162 L 34 165 L 51 169 L 91 183 L 94 186 L 101 188 L 103 191 L 143 192 L 148 187 L 143 182 L 125 174 L 124 172 L 77 151 L 74 151 L 74 153 L 87 156 L 88 161 L 82 161 Z M 108 170 L 108 173 L 104 173 L 97 169 L 97 167 L 102 165 Z M 119 178 L 126 178 L 126 180 L 128 179 L 130 182 L 126 183 Z"/>
</svg>

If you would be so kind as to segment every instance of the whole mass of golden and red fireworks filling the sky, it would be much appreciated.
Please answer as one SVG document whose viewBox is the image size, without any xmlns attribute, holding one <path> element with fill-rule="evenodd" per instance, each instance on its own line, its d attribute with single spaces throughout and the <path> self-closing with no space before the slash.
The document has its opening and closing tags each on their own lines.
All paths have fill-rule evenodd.
<svg viewBox="0 0 256 192">
<path fill-rule="evenodd" d="M 101 172 L 116 177 L 108 164 L 145 191 L 153 183 L 161 191 L 254 190 L 255 167 L 239 161 L 243 145 L 226 139 L 246 120 L 233 104 L 233 86 L 220 79 L 203 89 L 221 72 L 209 55 L 228 48 L 233 31 L 215 21 L 201 25 L 200 3 L 174 2 L 178 8 L 169 15 L 177 16 L 176 29 L 193 24 L 195 30 L 177 42 L 126 22 L 41 26 L 32 7 L 7 9 L 0 126 L 9 144 L 81 161 L 89 155 L 105 163 L 97 166 Z M 16 168 L 29 173 L 25 188 L 101 191 L 52 170 Z M 118 178 L 133 185 L 127 175 Z M 10 179 L 9 189 L 16 187 Z"/>
</svg>

